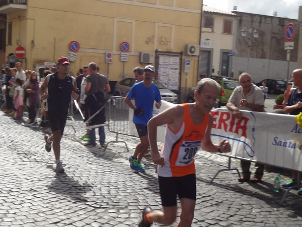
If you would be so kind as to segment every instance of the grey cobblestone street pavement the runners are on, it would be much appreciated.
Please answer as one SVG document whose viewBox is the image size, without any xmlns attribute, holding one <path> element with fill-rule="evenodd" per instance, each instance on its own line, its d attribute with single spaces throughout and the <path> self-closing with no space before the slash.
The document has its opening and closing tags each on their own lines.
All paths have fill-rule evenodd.
<svg viewBox="0 0 302 227">
<path fill-rule="evenodd" d="M 272 105 L 267 99 L 266 108 Z M 100 145 L 85 147 L 78 139 L 85 132 L 79 117 L 74 115 L 75 122 L 67 122 L 77 132 L 66 127 L 61 142 L 65 174 L 56 175 L 52 151 L 44 150 L 41 128 L 24 127 L 0 111 L 1 226 L 137 226 L 143 207 L 162 208 L 150 157 L 143 160 L 145 173 L 129 167 L 137 138 L 122 136 L 129 151 L 123 143 L 110 143 L 105 151 Z M 115 134 L 107 129 L 106 136 L 107 142 L 115 141 Z M 197 153 L 192 227 L 302 226 L 302 198 L 293 190 L 280 206 L 285 191 L 273 192 L 276 171 L 266 171 L 261 184 L 241 184 L 235 171 L 221 172 L 210 184 L 227 163 L 224 156 Z M 238 160 L 232 160 L 234 166 L 239 167 Z M 290 172 L 279 171 L 282 182 L 287 181 Z"/>
</svg>

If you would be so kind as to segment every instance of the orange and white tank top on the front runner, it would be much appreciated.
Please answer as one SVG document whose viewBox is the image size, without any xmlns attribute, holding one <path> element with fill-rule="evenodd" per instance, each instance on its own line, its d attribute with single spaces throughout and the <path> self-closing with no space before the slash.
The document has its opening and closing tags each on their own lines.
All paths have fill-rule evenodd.
<svg viewBox="0 0 302 227">
<path fill-rule="evenodd" d="M 165 165 L 157 166 L 158 175 L 161 177 L 183 177 L 195 174 L 194 156 L 198 151 L 201 141 L 207 130 L 209 115 L 205 113 L 200 125 L 195 125 L 191 119 L 189 104 L 182 104 L 184 116 L 177 132 L 173 132 L 169 124 L 166 128 L 165 141 L 162 147 L 162 156 Z"/>
</svg>

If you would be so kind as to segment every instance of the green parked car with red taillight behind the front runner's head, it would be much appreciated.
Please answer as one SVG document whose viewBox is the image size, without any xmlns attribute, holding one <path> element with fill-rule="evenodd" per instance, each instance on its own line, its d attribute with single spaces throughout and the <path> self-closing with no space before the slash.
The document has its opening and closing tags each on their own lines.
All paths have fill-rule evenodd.
<svg viewBox="0 0 302 227">
<path fill-rule="evenodd" d="M 226 102 L 228 102 L 233 90 L 240 86 L 240 84 L 235 80 L 228 80 L 225 77 L 211 77 L 213 80 L 215 80 L 218 84 L 221 86 L 220 93 L 218 95 L 218 103 L 215 107 L 220 107 L 221 105 L 225 105 Z M 194 99 L 194 89 L 192 88 L 188 94 L 187 102 L 195 102 Z"/>
</svg>

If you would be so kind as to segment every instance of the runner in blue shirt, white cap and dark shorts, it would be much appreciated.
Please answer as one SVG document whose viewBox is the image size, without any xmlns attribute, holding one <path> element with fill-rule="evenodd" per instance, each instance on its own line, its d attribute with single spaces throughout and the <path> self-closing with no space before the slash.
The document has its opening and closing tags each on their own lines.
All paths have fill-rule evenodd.
<svg viewBox="0 0 302 227">
<path fill-rule="evenodd" d="M 153 117 L 153 105 L 159 109 L 161 107 L 161 93 L 152 80 L 155 77 L 155 68 L 148 65 L 144 68 L 144 79 L 141 82 L 134 84 L 127 96 L 125 102 L 131 109 L 134 109 L 133 123 L 135 124 L 140 143 L 135 147 L 133 155 L 129 157 L 130 167 L 134 171 L 145 172 L 140 160 L 144 156 L 148 146 L 147 123 Z M 131 102 L 134 98 L 134 105 Z"/>
</svg>

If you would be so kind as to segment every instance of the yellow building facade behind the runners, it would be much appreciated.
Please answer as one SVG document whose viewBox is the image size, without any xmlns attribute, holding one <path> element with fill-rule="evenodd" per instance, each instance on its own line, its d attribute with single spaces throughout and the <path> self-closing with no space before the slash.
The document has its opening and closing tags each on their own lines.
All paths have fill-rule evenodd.
<svg viewBox="0 0 302 227">
<path fill-rule="evenodd" d="M 188 43 L 200 43 L 200 0 L 19 1 L 24 9 L 6 11 L 7 40 L 11 39 L 6 55 L 23 46 L 25 55 L 18 59 L 23 68 L 37 70 L 36 66 L 73 54 L 70 74 L 95 62 L 110 81 L 119 81 L 133 76 L 134 67 L 149 65 L 140 62 L 140 52 L 153 53 L 151 64 L 156 65 L 156 50 L 181 52 Z M 5 13 L 2 9 L 0 13 Z M 80 44 L 77 52 L 70 52 L 71 41 Z M 127 61 L 121 61 L 123 42 L 129 44 Z M 111 63 L 106 63 L 108 52 Z M 181 61 L 180 91 L 185 84 L 194 86 L 198 74 L 198 56 L 184 53 L 182 59 L 190 59 L 191 64 L 190 72 L 184 73 Z"/>
</svg>

